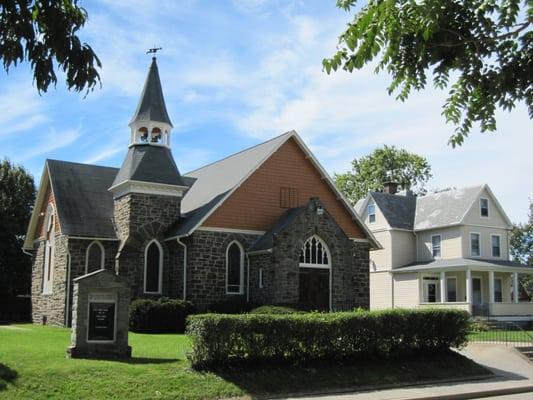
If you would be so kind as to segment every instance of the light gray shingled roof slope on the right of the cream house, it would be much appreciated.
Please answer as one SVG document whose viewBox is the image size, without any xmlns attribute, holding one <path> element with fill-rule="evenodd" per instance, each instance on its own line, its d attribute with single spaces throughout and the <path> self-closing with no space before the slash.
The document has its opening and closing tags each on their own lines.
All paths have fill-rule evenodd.
<svg viewBox="0 0 533 400">
<path fill-rule="evenodd" d="M 459 224 L 470 209 L 483 185 L 451 189 L 418 197 L 415 230 Z"/>
</svg>

